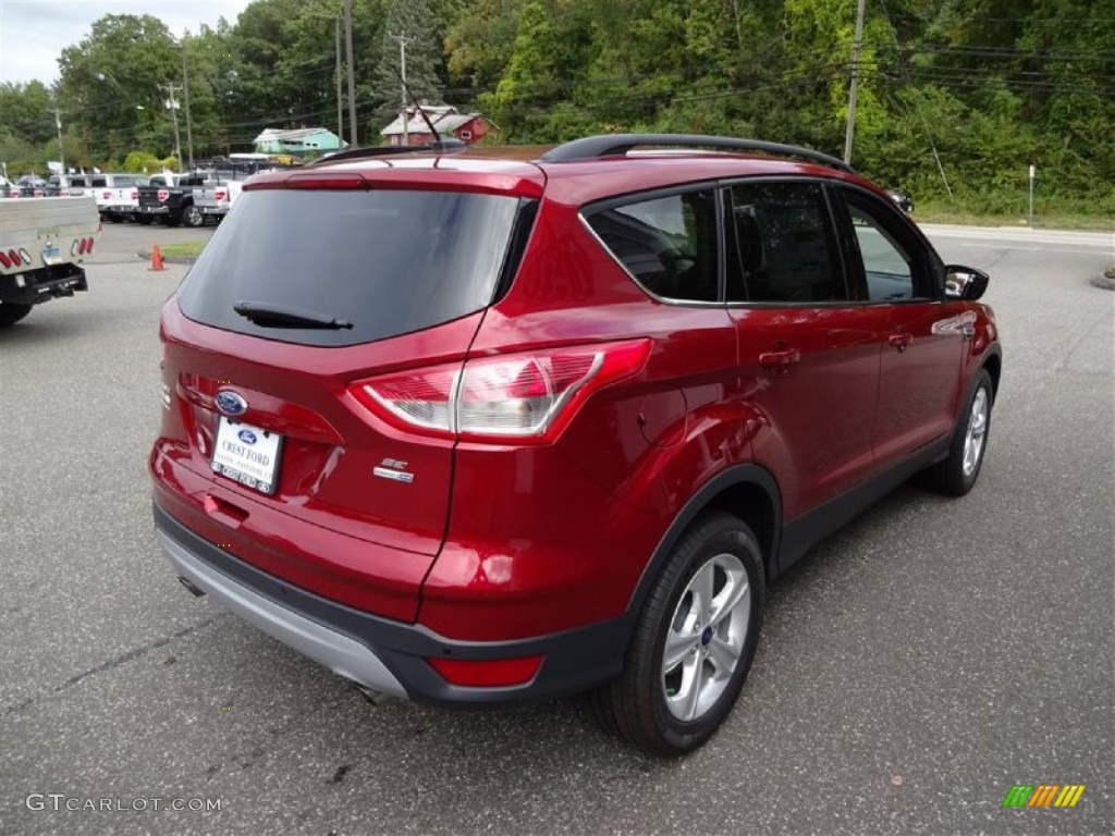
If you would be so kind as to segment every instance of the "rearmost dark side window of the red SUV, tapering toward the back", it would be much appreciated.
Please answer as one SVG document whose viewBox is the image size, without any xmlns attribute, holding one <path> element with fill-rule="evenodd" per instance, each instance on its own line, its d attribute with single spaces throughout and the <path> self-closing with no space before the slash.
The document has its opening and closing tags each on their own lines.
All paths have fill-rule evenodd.
<svg viewBox="0 0 1115 836">
<path fill-rule="evenodd" d="M 716 302 L 716 193 L 686 192 L 585 217 L 628 272 L 663 299 Z"/>
</svg>

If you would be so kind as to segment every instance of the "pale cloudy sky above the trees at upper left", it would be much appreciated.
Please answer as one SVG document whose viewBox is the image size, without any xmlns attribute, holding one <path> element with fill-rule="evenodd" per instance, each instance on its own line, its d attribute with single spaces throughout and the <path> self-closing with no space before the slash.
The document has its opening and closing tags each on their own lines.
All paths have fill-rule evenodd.
<svg viewBox="0 0 1115 836">
<path fill-rule="evenodd" d="M 230 23 L 250 0 L 0 0 L 0 84 L 58 79 L 58 56 L 105 14 L 151 14 L 175 36 Z"/>
</svg>

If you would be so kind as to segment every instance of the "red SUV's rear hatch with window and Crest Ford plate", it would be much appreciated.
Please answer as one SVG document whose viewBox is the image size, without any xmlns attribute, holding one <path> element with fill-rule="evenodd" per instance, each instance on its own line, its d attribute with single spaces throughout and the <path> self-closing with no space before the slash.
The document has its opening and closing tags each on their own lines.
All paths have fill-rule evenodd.
<svg viewBox="0 0 1115 836">
<path fill-rule="evenodd" d="M 234 516 L 278 512 L 387 547 L 358 560 L 371 582 L 398 576 L 385 561 L 421 579 L 436 556 L 454 441 L 391 427 L 361 402 L 361 381 L 463 363 L 532 216 L 532 200 L 506 187 L 426 176 L 408 178 L 416 187 L 308 173 L 249 186 L 164 311 L 173 404 L 159 444 L 232 497 Z M 202 493 L 191 500 L 214 502 Z M 320 577 L 314 591 L 375 609 L 359 583 L 349 595 L 330 579 L 340 555 L 302 554 L 297 527 L 284 536 L 283 558 L 261 567 L 311 589 Z M 229 539 L 261 564 L 251 543 Z M 384 614 L 413 619 L 417 595 L 413 611 Z"/>
</svg>

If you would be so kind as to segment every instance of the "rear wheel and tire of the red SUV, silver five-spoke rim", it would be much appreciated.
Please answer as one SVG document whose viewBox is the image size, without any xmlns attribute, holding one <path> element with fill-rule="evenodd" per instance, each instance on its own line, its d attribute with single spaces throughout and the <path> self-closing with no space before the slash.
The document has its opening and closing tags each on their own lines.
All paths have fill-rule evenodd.
<svg viewBox="0 0 1115 836">
<path fill-rule="evenodd" d="M 747 679 L 765 596 L 752 529 L 723 512 L 698 517 L 647 596 L 623 673 L 590 697 L 603 728 L 659 755 L 705 743 Z"/>
</svg>

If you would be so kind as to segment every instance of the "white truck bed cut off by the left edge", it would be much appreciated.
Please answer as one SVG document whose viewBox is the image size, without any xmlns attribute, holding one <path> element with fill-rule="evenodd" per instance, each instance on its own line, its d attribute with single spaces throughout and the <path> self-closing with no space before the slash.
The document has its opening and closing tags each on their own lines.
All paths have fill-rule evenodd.
<svg viewBox="0 0 1115 836">
<path fill-rule="evenodd" d="M 91 197 L 0 198 L 0 328 L 40 302 L 88 290 L 79 265 L 99 230 Z"/>
</svg>

